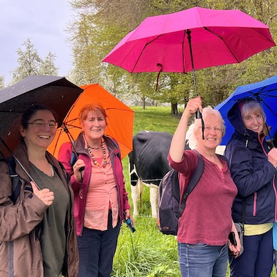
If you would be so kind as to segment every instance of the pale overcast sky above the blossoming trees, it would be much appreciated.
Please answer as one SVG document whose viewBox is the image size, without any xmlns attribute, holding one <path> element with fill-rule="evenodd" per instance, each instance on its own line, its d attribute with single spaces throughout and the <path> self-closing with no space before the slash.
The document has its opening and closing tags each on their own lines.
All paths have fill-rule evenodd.
<svg viewBox="0 0 277 277">
<path fill-rule="evenodd" d="M 0 75 L 6 86 L 18 66 L 17 49 L 25 50 L 28 38 L 42 59 L 49 51 L 56 55 L 59 75 L 69 73 L 72 57 L 65 29 L 73 15 L 67 0 L 0 0 Z"/>
</svg>

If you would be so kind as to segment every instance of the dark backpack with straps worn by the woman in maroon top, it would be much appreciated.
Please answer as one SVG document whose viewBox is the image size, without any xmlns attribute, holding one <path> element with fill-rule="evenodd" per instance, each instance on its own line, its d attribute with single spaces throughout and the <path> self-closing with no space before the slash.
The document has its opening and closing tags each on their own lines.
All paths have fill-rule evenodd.
<svg viewBox="0 0 277 277">
<path fill-rule="evenodd" d="M 177 235 L 179 217 L 181 217 L 184 212 L 184 208 L 186 207 L 186 199 L 193 191 L 193 188 L 197 185 L 199 179 L 202 177 L 202 173 L 204 171 L 204 161 L 197 150 L 193 151 L 197 154 L 198 163 L 192 177 L 190 178 L 190 181 L 188 182 L 188 186 L 186 187 L 181 201 L 178 172 L 176 170 L 172 169 L 166 173 L 159 184 L 157 223 L 159 230 L 163 234 Z M 222 155 L 217 156 L 226 161 L 228 165 L 226 157 Z"/>
</svg>

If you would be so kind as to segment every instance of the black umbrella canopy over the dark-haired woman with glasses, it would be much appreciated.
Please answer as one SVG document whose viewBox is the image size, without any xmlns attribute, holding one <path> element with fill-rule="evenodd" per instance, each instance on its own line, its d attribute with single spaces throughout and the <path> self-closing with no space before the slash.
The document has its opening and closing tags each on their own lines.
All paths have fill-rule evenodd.
<svg viewBox="0 0 277 277">
<path fill-rule="evenodd" d="M 83 89 L 60 76 L 33 75 L 0 89 L 0 137 L 10 150 L 14 150 L 21 138 L 19 125 L 21 116 L 33 105 L 46 105 L 53 109 L 59 118 L 58 124 L 78 98 Z M 6 148 L 0 150 L 10 155 Z"/>
</svg>

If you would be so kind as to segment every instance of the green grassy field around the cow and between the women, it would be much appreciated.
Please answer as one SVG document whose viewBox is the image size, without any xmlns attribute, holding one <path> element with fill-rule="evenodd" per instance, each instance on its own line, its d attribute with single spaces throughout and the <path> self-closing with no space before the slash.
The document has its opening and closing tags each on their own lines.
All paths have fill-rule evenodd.
<svg viewBox="0 0 277 277">
<path fill-rule="evenodd" d="M 131 107 L 135 111 L 134 134 L 141 130 L 168 132 L 173 134 L 179 123 L 178 116 L 170 115 L 170 107 Z M 128 174 L 128 159 L 123 159 L 126 189 L 132 206 L 131 189 Z M 149 188 L 143 186 L 139 203 L 139 216 L 136 220 L 136 232 L 129 231 L 123 224 L 118 238 L 118 247 L 114 257 L 115 277 L 179 277 L 177 240 L 172 235 L 163 235 L 157 222 L 151 217 Z M 132 211 L 132 207 L 131 207 Z M 229 269 L 227 275 L 229 276 Z M 271 277 L 275 277 L 272 272 Z"/>
</svg>

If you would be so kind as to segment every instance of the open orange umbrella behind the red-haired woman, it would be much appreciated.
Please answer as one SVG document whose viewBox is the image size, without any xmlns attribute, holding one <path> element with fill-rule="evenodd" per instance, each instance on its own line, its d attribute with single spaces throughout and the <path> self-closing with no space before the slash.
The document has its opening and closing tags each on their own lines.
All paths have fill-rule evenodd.
<svg viewBox="0 0 277 277">
<path fill-rule="evenodd" d="M 134 111 L 112 96 L 111 93 L 103 89 L 99 84 L 87 84 L 81 86 L 81 88 L 84 91 L 74 102 L 63 121 L 64 127 L 68 129 L 69 134 L 64 132 L 64 127 L 58 128 L 55 139 L 47 150 L 57 157 L 60 146 L 62 143 L 69 141 L 69 136 L 71 136 L 71 140 L 77 139 L 82 131 L 78 120 L 80 109 L 89 103 L 98 102 L 107 113 L 105 134 L 118 142 L 121 158 L 125 157 L 133 150 Z"/>
</svg>

